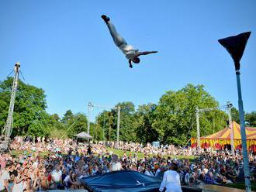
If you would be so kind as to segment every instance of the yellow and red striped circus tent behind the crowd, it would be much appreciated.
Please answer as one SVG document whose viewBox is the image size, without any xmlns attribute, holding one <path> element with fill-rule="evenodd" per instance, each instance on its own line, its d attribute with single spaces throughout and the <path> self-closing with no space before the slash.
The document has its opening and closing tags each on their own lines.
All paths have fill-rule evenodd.
<svg viewBox="0 0 256 192">
<path fill-rule="evenodd" d="M 234 147 L 241 148 L 242 140 L 240 134 L 240 125 L 237 122 L 232 122 L 234 128 Z M 256 128 L 246 127 L 245 128 L 247 137 L 247 148 L 254 148 L 256 146 Z M 200 137 L 200 144 L 202 148 L 213 147 L 221 149 L 225 145 L 230 145 L 230 132 L 229 127 L 221 130 L 220 132 L 213 133 L 212 135 Z M 196 139 L 191 139 L 191 146 L 197 146 Z"/>
</svg>

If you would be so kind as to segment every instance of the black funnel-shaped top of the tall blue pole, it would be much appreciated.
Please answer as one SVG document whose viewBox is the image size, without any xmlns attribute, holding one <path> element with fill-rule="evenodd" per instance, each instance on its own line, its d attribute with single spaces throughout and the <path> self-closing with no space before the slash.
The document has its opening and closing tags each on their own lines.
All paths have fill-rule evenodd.
<svg viewBox="0 0 256 192">
<path fill-rule="evenodd" d="M 237 36 L 230 36 L 224 39 L 219 39 L 219 43 L 224 46 L 230 56 L 234 60 L 236 70 L 240 70 L 240 59 L 243 56 L 244 49 L 249 39 L 251 32 L 240 33 Z"/>
</svg>

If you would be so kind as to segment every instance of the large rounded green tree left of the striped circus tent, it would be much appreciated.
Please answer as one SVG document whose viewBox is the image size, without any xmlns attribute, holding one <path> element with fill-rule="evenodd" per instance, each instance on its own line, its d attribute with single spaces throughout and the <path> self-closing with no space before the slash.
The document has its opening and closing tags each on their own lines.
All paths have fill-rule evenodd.
<svg viewBox="0 0 256 192">
<path fill-rule="evenodd" d="M 195 107 L 215 108 L 218 102 L 207 93 L 202 85 L 186 85 L 179 91 L 168 91 L 164 94 L 156 109 L 153 123 L 157 130 L 158 139 L 164 143 L 185 145 L 192 136 L 196 135 Z M 225 113 L 220 110 L 209 111 L 200 115 L 201 135 L 208 135 L 213 130 L 215 118 L 216 131 L 226 125 Z"/>
</svg>

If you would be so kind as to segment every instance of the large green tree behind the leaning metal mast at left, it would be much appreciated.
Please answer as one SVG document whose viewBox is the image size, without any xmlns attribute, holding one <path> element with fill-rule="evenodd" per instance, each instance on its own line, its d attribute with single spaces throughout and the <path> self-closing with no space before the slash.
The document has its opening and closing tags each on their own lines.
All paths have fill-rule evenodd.
<svg viewBox="0 0 256 192">
<path fill-rule="evenodd" d="M 5 81 L 0 82 L 1 127 L 5 125 L 9 111 L 12 81 L 13 78 L 9 77 Z M 43 89 L 19 81 L 13 113 L 12 135 L 26 135 L 31 133 L 31 130 L 40 129 L 40 126 L 43 127 L 44 131 L 38 133 L 33 131 L 35 135 L 49 134 L 47 131 L 48 116 L 45 111 L 46 108 L 46 95 L 44 94 Z"/>
</svg>

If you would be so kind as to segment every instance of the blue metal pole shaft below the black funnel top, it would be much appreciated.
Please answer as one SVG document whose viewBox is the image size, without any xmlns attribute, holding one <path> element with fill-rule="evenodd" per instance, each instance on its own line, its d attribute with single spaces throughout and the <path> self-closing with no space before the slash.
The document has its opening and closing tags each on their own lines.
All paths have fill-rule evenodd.
<svg viewBox="0 0 256 192">
<path fill-rule="evenodd" d="M 240 70 L 236 70 L 236 74 L 237 74 L 240 132 L 242 136 L 243 159 L 244 159 L 244 180 L 245 180 L 246 190 L 251 191 L 249 160 L 248 160 L 248 154 L 247 154 L 247 142 L 246 142 L 246 132 L 245 132 L 245 122 L 244 122 L 244 105 L 243 105 L 241 86 L 240 86 Z"/>
</svg>

